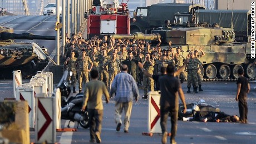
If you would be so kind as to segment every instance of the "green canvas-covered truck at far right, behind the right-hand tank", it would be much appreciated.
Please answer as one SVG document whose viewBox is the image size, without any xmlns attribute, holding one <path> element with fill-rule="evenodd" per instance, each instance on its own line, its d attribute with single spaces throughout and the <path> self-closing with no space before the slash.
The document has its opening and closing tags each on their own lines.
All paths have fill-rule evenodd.
<svg viewBox="0 0 256 144">
<path fill-rule="evenodd" d="M 191 13 L 175 13 L 171 27 L 190 27 L 189 19 L 192 19 Z M 251 31 L 251 13 L 247 9 L 205 9 L 195 11 L 196 21 L 199 23 L 207 23 L 212 27 L 233 27 L 235 31 L 235 41 L 249 42 Z M 233 23 L 232 23 L 233 21 Z"/>
</svg>

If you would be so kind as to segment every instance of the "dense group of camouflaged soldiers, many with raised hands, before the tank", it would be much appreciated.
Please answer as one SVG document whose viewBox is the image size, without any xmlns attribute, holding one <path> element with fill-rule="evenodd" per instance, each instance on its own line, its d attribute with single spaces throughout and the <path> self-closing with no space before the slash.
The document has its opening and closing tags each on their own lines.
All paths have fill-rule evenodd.
<svg viewBox="0 0 256 144">
<path fill-rule="evenodd" d="M 110 90 L 111 83 L 117 73 L 120 72 L 122 64 L 129 67 L 128 73 L 134 77 L 137 85 L 144 87 L 144 97 L 147 98 L 149 91 L 154 91 L 154 81 L 152 78 L 143 75 L 141 69 L 137 66 L 141 62 L 144 68 L 151 75 L 160 75 L 160 68 L 167 67 L 168 64 L 173 64 L 177 69 L 182 67 L 186 58 L 189 58 L 187 71 L 188 71 L 188 93 L 190 93 L 191 84 L 193 85 L 194 92 L 203 91 L 201 89 L 201 74 L 200 67 L 202 63 L 199 61 L 204 52 L 199 48 L 201 55 L 198 51 L 191 49 L 188 56 L 183 56 L 181 47 L 169 47 L 162 49 L 161 39 L 159 43 L 152 47 L 149 42 L 144 40 L 125 40 L 108 38 L 104 36 L 102 39 L 93 37 L 91 39 L 83 39 L 82 34 L 78 33 L 76 36 L 72 34 L 71 38 L 66 37 L 66 48 L 64 53 L 65 68 L 72 72 L 70 81 L 73 85 L 73 93 L 76 93 L 76 82 L 78 79 L 78 89 L 82 92 L 82 85 L 90 80 L 88 73 L 92 68 L 99 71 L 99 80 L 103 81 L 107 88 Z M 174 53 L 176 49 L 176 52 Z M 185 80 L 185 71 L 178 74 L 180 82 Z"/>
</svg>

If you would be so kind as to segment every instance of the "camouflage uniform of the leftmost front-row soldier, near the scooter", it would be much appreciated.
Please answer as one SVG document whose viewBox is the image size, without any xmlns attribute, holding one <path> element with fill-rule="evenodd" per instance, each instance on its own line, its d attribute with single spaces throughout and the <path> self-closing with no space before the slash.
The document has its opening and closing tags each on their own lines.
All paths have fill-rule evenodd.
<svg viewBox="0 0 256 144">
<path fill-rule="evenodd" d="M 76 86 L 76 59 L 76 57 L 70 58 L 67 64 L 68 72 L 72 72 L 72 76 L 68 76 L 68 80 L 72 82 L 73 87 Z"/>
</svg>

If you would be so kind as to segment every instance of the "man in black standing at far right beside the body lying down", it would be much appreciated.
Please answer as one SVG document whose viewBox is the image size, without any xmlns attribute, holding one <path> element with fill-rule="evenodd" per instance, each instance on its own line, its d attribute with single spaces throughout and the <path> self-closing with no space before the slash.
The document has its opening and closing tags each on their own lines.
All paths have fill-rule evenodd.
<svg viewBox="0 0 256 144">
<path fill-rule="evenodd" d="M 247 93 L 250 91 L 250 84 L 246 77 L 244 77 L 244 70 L 242 68 L 238 69 L 239 78 L 237 80 L 237 97 L 235 101 L 238 101 L 240 122 L 247 123 Z"/>
</svg>

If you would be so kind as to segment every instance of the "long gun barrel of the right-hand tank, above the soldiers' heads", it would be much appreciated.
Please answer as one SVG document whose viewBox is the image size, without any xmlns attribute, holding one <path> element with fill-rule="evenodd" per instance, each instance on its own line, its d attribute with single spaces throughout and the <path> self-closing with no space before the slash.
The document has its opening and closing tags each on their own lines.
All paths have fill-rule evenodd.
<svg viewBox="0 0 256 144">
<path fill-rule="evenodd" d="M 115 39 L 144 39 L 151 41 L 161 38 L 159 33 L 144 34 L 141 32 L 135 32 L 134 34 L 110 34 L 109 37 Z"/>
</svg>

